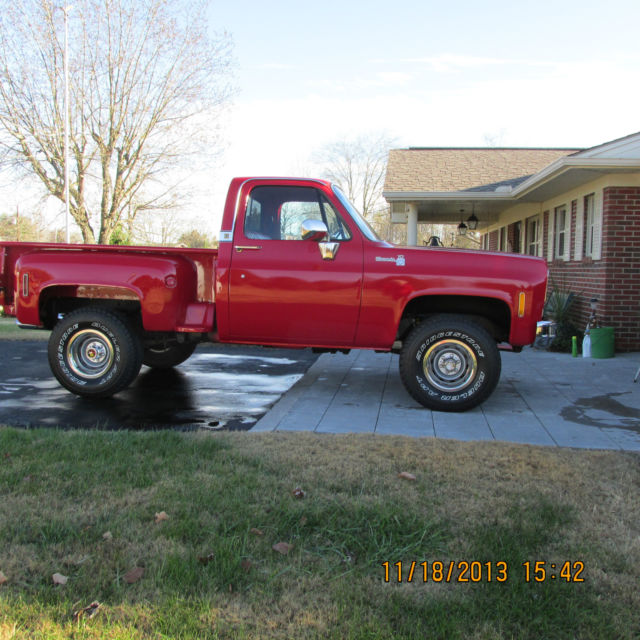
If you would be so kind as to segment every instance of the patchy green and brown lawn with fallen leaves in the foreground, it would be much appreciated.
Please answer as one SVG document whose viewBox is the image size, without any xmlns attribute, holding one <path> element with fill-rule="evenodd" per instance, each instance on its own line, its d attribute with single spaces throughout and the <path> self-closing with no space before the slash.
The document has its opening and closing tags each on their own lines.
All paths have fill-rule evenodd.
<svg viewBox="0 0 640 640">
<path fill-rule="evenodd" d="M 0 428 L 0 638 L 637 638 L 639 489 L 630 453 Z M 494 579 L 407 581 L 465 560 Z"/>
</svg>

